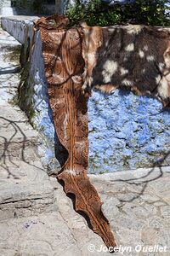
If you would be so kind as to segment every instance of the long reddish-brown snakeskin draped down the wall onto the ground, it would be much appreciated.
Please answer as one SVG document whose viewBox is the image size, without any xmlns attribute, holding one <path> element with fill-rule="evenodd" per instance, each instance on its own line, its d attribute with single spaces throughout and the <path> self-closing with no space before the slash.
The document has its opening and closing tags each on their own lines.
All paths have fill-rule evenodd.
<svg viewBox="0 0 170 256">
<path fill-rule="evenodd" d="M 94 232 L 103 238 L 107 247 L 115 247 L 110 224 L 101 211 L 102 202 L 87 176 L 88 109 L 87 99 L 82 95 L 85 66 L 82 28 L 67 29 L 67 22 L 64 16 L 54 16 L 48 19 L 42 17 L 35 24 L 42 37 L 55 130 L 69 154 L 58 178 L 65 183 L 65 193 L 75 195 L 76 211 L 88 216 Z"/>
</svg>

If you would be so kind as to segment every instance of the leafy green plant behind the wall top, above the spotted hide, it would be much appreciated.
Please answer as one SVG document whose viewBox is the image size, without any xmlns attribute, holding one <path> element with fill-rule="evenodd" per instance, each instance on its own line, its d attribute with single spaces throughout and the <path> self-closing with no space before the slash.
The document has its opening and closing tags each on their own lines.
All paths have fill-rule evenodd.
<svg viewBox="0 0 170 256">
<path fill-rule="evenodd" d="M 150 26 L 170 26 L 166 0 L 127 1 L 122 5 L 110 6 L 101 0 L 82 3 L 77 0 L 74 6 L 68 4 L 65 14 L 70 18 L 70 26 L 86 21 L 89 26 L 111 26 L 115 24 L 144 24 Z"/>
</svg>

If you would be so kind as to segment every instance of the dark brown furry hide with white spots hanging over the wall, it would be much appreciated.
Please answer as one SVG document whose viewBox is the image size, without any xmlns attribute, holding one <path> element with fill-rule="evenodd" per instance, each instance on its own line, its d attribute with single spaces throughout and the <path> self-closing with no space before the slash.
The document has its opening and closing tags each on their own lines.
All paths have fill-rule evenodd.
<svg viewBox="0 0 170 256">
<path fill-rule="evenodd" d="M 156 27 L 82 24 L 86 68 L 82 90 L 116 88 L 170 105 L 170 33 Z"/>
</svg>

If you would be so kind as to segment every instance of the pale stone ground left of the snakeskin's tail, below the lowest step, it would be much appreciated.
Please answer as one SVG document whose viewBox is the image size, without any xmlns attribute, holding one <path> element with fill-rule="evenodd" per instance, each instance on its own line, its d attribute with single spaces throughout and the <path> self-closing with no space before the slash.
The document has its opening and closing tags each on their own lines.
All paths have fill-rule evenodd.
<svg viewBox="0 0 170 256">
<path fill-rule="evenodd" d="M 57 211 L 0 221 L 0 255 L 109 256 L 109 253 L 89 251 L 90 244 L 99 249 L 105 247 L 104 242 L 88 228 L 85 218 L 74 211 L 71 199 L 65 196 L 56 178 L 50 180 Z"/>
</svg>

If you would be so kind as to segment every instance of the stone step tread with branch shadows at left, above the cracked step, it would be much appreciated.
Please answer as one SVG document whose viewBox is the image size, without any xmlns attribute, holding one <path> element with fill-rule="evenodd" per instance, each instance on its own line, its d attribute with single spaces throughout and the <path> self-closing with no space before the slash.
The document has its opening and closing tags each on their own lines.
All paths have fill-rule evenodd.
<svg viewBox="0 0 170 256">
<path fill-rule="evenodd" d="M 8 158 L 31 160 L 37 157 L 38 133 L 26 114 L 9 104 L 0 108 L 0 163 Z"/>
</svg>

